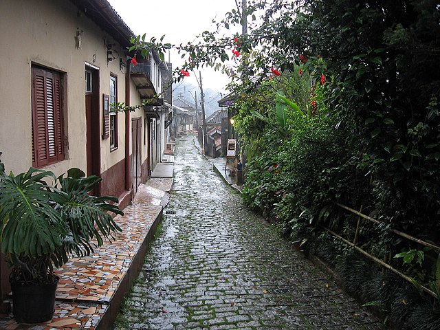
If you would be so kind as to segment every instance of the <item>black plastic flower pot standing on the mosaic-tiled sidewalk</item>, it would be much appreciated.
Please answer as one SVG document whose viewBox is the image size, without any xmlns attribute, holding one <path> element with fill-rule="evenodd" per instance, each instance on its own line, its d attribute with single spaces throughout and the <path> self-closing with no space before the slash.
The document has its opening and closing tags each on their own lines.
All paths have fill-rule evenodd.
<svg viewBox="0 0 440 330">
<path fill-rule="evenodd" d="M 52 320 L 55 311 L 54 283 L 30 285 L 11 283 L 14 319 L 21 323 L 40 323 Z"/>
</svg>

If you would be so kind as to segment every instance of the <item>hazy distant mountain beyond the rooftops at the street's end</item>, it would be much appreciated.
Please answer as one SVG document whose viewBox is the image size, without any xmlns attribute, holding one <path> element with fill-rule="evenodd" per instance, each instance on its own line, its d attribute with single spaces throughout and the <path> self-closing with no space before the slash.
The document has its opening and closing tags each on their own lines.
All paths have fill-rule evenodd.
<svg viewBox="0 0 440 330">
<path fill-rule="evenodd" d="M 219 91 L 214 91 L 214 89 L 204 89 L 205 94 L 205 112 L 206 117 L 209 117 L 215 111 L 219 110 L 218 100 L 225 96 Z M 196 95 L 197 94 L 197 95 Z M 195 104 L 195 98 L 197 97 L 197 109 L 201 109 L 201 98 L 200 89 L 198 86 L 192 85 L 186 81 L 181 81 L 179 83 L 173 84 L 173 100 L 176 98 L 183 98 L 190 104 Z"/>
</svg>

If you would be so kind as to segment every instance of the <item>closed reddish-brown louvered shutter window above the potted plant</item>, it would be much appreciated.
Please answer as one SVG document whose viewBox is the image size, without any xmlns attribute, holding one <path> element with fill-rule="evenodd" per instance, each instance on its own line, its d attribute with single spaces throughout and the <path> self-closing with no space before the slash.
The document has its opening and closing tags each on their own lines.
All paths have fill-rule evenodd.
<svg viewBox="0 0 440 330">
<path fill-rule="evenodd" d="M 64 157 L 61 74 L 32 67 L 32 166 L 43 167 Z"/>
</svg>

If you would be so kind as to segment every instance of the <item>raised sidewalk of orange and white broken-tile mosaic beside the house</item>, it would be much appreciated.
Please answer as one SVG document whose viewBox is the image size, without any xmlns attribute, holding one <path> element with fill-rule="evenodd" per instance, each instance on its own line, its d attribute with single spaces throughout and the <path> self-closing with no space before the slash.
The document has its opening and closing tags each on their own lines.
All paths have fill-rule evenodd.
<svg viewBox="0 0 440 330">
<path fill-rule="evenodd" d="M 113 316 L 114 300 L 120 300 L 124 290 L 129 289 L 130 274 L 135 269 L 135 259 L 142 264 L 142 250 L 151 228 L 162 217 L 162 209 L 168 201 L 166 192 L 172 179 L 152 179 L 147 186 L 141 185 L 136 195 L 137 204 L 124 209 L 123 217 L 115 221 L 122 232 L 115 234 L 92 256 L 71 259 L 58 269 L 60 282 L 56 290 L 56 310 L 52 322 L 38 325 L 19 324 L 12 315 L 0 318 L 0 329 L 97 329 L 102 320 L 109 322 Z M 163 189 L 163 190 L 161 190 Z M 141 252 L 140 252 L 141 251 Z"/>
</svg>

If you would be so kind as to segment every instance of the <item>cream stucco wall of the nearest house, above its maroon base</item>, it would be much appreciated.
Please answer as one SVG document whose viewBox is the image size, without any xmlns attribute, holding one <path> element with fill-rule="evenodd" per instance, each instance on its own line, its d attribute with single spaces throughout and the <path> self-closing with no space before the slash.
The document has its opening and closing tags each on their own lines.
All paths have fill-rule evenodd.
<svg viewBox="0 0 440 330">
<path fill-rule="evenodd" d="M 32 166 L 32 65 L 64 74 L 66 159 L 51 166 L 56 175 L 70 167 L 87 165 L 85 118 L 85 63 L 99 68 L 100 118 L 102 94 L 109 94 L 109 76 L 118 77 L 118 101 L 125 100 L 126 63 L 123 49 L 113 46 L 107 61 L 107 44 L 113 39 L 70 2 L 63 0 L 0 1 L 0 151 L 7 170 L 15 173 Z M 83 31 L 81 47 L 76 32 Z M 132 104 L 137 102 L 135 94 Z M 102 123 L 99 124 L 102 135 Z M 110 151 L 109 139 L 100 140 L 101 172 L 124 159 L 125 115 L 118 115 L 118 149 Z"/>
</svg>

